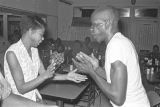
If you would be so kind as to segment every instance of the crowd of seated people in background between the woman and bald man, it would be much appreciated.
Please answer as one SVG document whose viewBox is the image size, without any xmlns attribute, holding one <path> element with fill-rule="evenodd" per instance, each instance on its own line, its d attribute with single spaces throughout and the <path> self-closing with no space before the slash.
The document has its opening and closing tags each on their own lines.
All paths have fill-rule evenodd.
<svg viewBox="0 0 160 107">
<path fill-rule="evenodd" d="M 105 43 L 94 43 L 90 37 L 86 37 L 84 41 L 75 40 L 67 41 L 67 43 L 60 38 L 56 40 L 49 38 L 45 39 L 39 45 L 38 49 L 40 57 L 46 67 L 50 63 L 53 63 L 53 61 L 56 62 L 57 65 L 72 64 L 72 58 L 75 58 L 76 54 L 80 51 L 87 55 L 93 53 L 102 63 L 104 61 Z"/>
</svg>

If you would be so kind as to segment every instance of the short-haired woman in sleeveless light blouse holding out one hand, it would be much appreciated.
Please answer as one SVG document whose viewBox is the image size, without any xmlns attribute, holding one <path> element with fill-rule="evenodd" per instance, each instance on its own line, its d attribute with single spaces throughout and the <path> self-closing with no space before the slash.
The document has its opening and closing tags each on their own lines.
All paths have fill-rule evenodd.
<svg viewBox="0 0 160 107">
<path fill-rule="evenodd" d="M 76 83 L 86 80 L 86 76 L 75 73 L 55 74 L 55 63 L 44 68 L 39 58 L 38 45 L 44 40 L 45 22 L 38 16 L 22 16 L 21 39 L 11 45 L 4 56 L 5 79 L 12 92 L 36 102 L 42 102 L 37 87 L 45 80 L 70 80 Z"/>
</svg>

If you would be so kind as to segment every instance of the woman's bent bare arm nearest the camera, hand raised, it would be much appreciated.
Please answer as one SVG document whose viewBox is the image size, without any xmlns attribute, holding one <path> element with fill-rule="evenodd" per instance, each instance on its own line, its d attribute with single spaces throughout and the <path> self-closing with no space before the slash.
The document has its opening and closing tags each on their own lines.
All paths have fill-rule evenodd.
<svg viewBox="0 0 160 107">
<path fill-rule="evenodd" d="M 43 81 L 52 77 L 52 75 L 54 73 L 52 71 L 48 71 L 48 72 L 45 72 L 42 75 L 38 76 L 36 79 L 33 79 L 29 82 L 25 82 L 22 68 L 21 68 L 14 52 L 12 52 L 12 51 L 7 52 L 6 59 L 7 59 L 11 74 L 13 76 L 13 79 L 15 81 L 16 87 L 17 87 L 19 93 L 21 93 L 21 94 L 25 94 L 25 93 L 35 89 Z"/>
</svg>

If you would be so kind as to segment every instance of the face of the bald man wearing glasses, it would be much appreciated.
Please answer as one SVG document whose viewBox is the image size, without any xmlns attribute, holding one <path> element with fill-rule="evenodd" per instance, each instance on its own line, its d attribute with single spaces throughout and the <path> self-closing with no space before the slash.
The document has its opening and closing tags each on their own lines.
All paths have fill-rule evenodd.
<svg viewBox="0 0 160 107">
<path fill-rule="evenodd" d="M 107 20 L 101 18 L 102 16 L 97 14 L 92 17 L 91 34 L 98 42 L 102 42 L 107 39 Z"/>
</svg>

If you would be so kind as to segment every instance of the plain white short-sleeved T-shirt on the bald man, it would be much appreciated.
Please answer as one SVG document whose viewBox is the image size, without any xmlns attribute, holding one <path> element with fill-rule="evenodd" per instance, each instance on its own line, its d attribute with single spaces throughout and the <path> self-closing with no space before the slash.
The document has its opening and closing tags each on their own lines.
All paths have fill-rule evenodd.
<svg viewBox="0 0 160 107">
<path fill-rule="evenodd" d="M 146 91 L 142 85 L 139 61 L 136 49 L 132 42 L 120 32 L 116 33 L 109 41 L 105 53 L 105 71 L 107 81 L 111 83 L 111 63 L 121 61 L 127 67 L 127 93 L 122 106 L 113 102 L 113 107 L 150 107 Z"/>
</svg>

